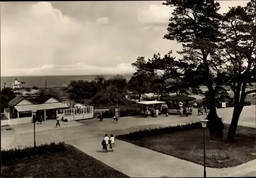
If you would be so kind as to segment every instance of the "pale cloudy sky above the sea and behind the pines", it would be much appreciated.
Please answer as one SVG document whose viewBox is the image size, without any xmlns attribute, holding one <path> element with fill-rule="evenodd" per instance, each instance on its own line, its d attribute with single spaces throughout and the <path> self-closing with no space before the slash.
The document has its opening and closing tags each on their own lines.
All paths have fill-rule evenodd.
<svg viewBox="0 0 256 178">
<path fill-rule="evenodd" d="M 247 2 L 219 1 L 220 13 Z M 126 74 L 138 56 L 177 56 L 162 3 L 2 2 L 1 76 Z"/>
</svg>

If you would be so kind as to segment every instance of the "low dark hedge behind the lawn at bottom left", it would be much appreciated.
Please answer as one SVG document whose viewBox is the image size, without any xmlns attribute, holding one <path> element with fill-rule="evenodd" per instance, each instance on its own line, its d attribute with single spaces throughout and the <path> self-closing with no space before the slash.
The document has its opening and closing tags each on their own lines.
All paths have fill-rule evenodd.
<svg viewBox="0 0 256 178">
<path fill-rule="evenodd" d="M 23 149 L 21 148 L 11 148 L 7 150 L 1 150 L 2 154 L 2 162 L 13 162 L 15 159 L 22 159 L 26 157 L 33 157 L 35 155 L 42 155 L 47 153 L 55 153 L 55 152 L 63 152 L 66 151 L 65 143 L 50 143 L 50 144 L 42 144 L 39 146 L 29 146 Z"/>
</svg>

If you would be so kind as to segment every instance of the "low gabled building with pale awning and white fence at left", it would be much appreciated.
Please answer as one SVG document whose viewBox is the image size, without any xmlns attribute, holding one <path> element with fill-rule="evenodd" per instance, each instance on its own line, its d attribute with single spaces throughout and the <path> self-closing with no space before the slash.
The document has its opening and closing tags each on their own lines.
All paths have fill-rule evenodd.
<svg viewBox="0 0 256 178">
<path fill-rule="evenodd" d="M 33 113 L 42 116 L 43 120 L 67 119 L 81 120 L 91 119 L 94 116 L 93 106 L 83 105 L 82 108 L 70 107 L 67 102 L 61 102 L 54 96 L 41 95 L 35 98 L 17 96 L 8 103 L 4 103 L 4 113 L 1 113 L 1 126 L 33 122 Z M 75 103 L 78 104 L 78 103 Z"/>
</svg>

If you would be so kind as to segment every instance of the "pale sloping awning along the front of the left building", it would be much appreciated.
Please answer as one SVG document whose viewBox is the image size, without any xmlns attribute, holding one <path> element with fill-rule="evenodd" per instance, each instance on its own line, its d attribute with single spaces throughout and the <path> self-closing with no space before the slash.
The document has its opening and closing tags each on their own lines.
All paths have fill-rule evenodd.
<svg viewBox="0 0 256 178">
<path fill-rule="evenodd" d="M 30 112 L 32 110 L 48 110 L 48 109 L 60 109 L 60 108 L 70 108 L 66 104 L 61 102 L 58 103 L 44 103 L 44 104 L 29 104 L 14 106 L 18 112 Z"/>
</svg>

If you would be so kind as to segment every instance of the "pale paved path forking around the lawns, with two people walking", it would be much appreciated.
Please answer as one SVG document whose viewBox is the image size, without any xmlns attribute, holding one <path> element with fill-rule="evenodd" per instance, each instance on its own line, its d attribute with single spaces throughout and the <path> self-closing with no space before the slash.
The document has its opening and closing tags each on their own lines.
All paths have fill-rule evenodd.
<svg viewBox="0 0 256 178">
<path fill-rule="evenodd" d="M 230 122 L 230 119 L 227 117 L 227 109 L 229 108 L 218 109 L 219 115 L 224 117 L 224 121 L 226 123 Z M 250 110 L 253 108 L 246 107 L 246 109 Z M 245 112 L 245 114 L 249 113 Z M 241 117 L 243 117 L 243 115 Z M 242 119 L 241 121 L 253 124 L 254 117 L 255 125 L 255 112 L 254 115 L 250 113 L 249 116 L 250 117 L 247 117 L 246 120 Z M 203 117 L 204 116 L 201 116 L 200 118 Z M 78 149 L 92 155 L 94 158 L 131 177 L 202 176 L 203 166 L 201 165 L 171 157 L 127 142 L 116 139 L 116 150 L 108 153 L 102 152 L 100 145 L 105 133 L 108 133 L 109 135 L 120 135 L 140 128 L 185 124 L 186 122 L 197 121 L 198 119 L 199 118 L 197 116 L 183 118 L 178 116 L 159 118 L 126 117 L 121 118 L 119 124 L 112 123 L 112 120 L 110 119 L 105 119 L 103 122 L 98 122 L 97 119 L 92 119 L 80 121 L 79 123 L 75 121 L 68 122 L 66 128 L 50 128 L 49 130 L 42 128 L 45 128 L 48 125 L 44 123 L 42 125 L 37 125 L 39 131 L 36 132 L 36 143 L 43 144 L 51 141 L 65 141 L 66 143 L 74 145 Z M 76 124 L 77 126 L 75 126 Z M 73 125 L 73 127 L 71 127 L 71 125 Z M 30 128 L 31 126 L 33 125 L 23 125 L 24 128 Z M 13 126 L 13 128 L 14 130 L 11 130 L 10 132 L 2 132 L 3 148 L 33 145 L 33 133 L 31 130 L 27 129 L 28 132 L 16 132 L 16 130 L 22 129 L 19 128 L 18 125 Z M 256 171 L 255 165 L 256 160 L 253 160 L 234 168 L 207 168 L 207 176 L 244 176 Z"/>
</svg>

